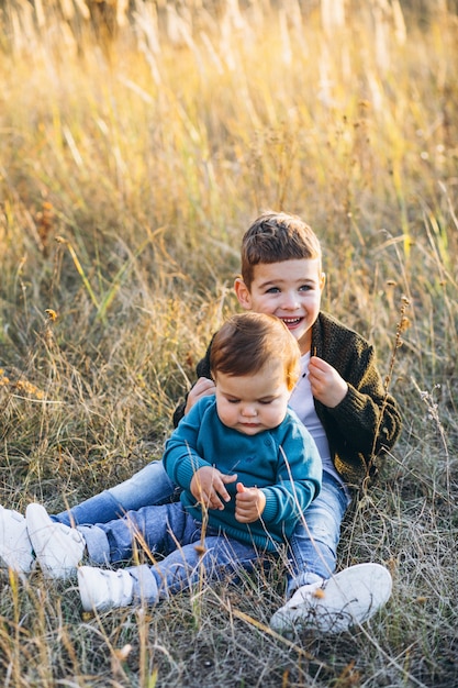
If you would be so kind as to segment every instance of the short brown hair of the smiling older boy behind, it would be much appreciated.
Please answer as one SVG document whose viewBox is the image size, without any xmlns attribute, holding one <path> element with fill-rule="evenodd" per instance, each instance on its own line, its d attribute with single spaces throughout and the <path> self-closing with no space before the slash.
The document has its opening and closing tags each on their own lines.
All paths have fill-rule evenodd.
<svg viewBox="0 0 458 688">
<path fill-rule="evenodd" d="M 245 232 L 242 240 L 242 277 L 248 289 L 254 267 L 261 263 L 281 263 L 302 258 L 319 258 L 322 251 L 313 230 L 298 215 L 266 212 Z"/>
</svg>

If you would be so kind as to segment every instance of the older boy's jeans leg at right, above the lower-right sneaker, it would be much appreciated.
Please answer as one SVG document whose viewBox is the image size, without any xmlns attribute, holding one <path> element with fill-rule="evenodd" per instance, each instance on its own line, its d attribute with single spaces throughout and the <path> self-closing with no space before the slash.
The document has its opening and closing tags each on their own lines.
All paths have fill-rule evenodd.
<svg viewBox="0 0 458 688">
<path fill-rule="evenodd" d="M 340 525 L 350 501 L 348 491 L 323 470 L 321 492 L 303 513 L 290 540 L 288 597 L 300 586 L 327 579 L 334 573 Z"/>
</svg>

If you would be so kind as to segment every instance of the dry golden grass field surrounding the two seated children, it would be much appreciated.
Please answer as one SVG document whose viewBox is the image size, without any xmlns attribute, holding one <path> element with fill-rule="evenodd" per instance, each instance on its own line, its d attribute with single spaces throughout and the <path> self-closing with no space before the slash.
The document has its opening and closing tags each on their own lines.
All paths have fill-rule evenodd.
<svg viewBox="0 0 458 688">
<path fill-rule="evenodd" d="M 4 687 L 458 686 L 458 16 L 446 0 L 0 2 L 0 503 L 75 504 L 160 457 L 243 232 L 304 218 L 323 308 L 403 413 L 339 568 L 365 626 L 269 631 L 280 568 L 154 609 L 0 577 Z"/>
</svg>

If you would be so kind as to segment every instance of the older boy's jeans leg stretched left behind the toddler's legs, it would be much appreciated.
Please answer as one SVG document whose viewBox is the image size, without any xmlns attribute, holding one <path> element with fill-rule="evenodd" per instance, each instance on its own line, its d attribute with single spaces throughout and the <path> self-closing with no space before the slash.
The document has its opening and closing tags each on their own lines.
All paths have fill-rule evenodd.
<svg viewBox="0 0 458 688">
<path fill-rule="evenodd" d="M 167 476 L 161 460 L 147 464 L 132 478 L 52 517 L 66 525 L 108 523 L 127 511 L 177 499 L 180 489 Z"/>
</svg>

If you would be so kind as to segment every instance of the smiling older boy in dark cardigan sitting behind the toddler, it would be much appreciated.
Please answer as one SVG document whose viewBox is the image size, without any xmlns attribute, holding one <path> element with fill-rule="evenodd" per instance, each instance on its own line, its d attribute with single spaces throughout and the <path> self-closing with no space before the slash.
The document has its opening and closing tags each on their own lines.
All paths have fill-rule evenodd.
<svg viewBox="0 0 458 688">
<path fill-rule="evenodd" d="M 372 346 L 320 310 L 324 284 L 320 242 L 302 220 L 270 212 L 247 230 L 235 291 L 244 309 L 276 315 L 298 340 L 302 373 L 290 404 L 315 440 L 324 466 L 322 492 L 291 541 L 290 599 L 271 620 L 279 631 L 345 630 L 370 618 L 391 588 L 388 572 L 378 565 L 350 567 L 333 576 L 349 488 L 359 485 L 373 470 L 375 458 L 394 445 L 401 418 L 394 399 L 386 393 Z M 175 412 L 175 424 L 197 400 L 214 393 L 210 352 L 211 345 L 198 364 L 198 381 Z M 154 462 L 57 519 L 93 523 L 99 513 L 109 520 L 126 509 L 166 499 L 174 489 L 161 464 Z M 11 513 L 3 520 L 22 536 L 23 517 Z M 26 569 L 32 564 L 31 548 L 26 536 L 21 542 Z M 0 539 L 0 556 L 1 552 Z M 319 595 L 319 588 L 326 595 L 322 590 Z"/>
</svg>

